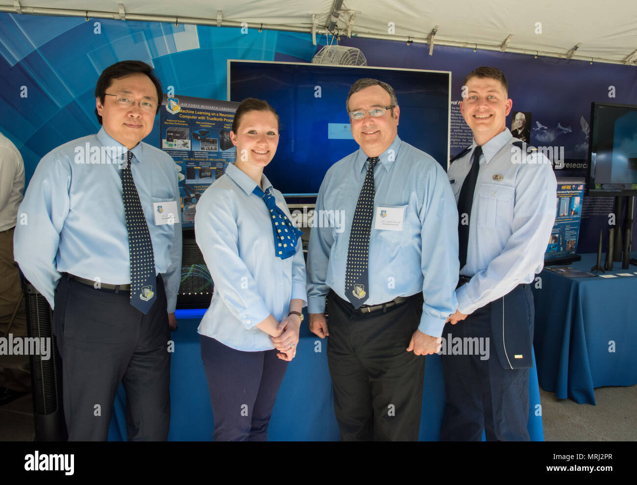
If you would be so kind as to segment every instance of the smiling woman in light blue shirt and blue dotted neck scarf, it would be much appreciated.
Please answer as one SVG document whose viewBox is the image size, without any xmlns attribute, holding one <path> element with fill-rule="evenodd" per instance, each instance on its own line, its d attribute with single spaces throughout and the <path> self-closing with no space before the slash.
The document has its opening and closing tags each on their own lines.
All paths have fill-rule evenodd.
<svg viewBox="0 0 637 485">
<path fill-rule="evenodd" d="M 230 132 L 236 162 L 197 204 L 196 240 L 215 285 L 197 330 L 215 441 L 267 439 L 276 392 L 299 342 L 307 301 L 301 231 L 263 174 L 278 128 L 268 102 L 242 101 Z"/>
</svg>

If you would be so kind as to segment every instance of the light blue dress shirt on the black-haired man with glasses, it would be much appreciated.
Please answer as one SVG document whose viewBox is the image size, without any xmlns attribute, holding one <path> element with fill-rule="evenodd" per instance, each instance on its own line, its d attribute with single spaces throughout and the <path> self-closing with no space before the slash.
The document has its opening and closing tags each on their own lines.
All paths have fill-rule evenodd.
<svg viewBox="0 0 637 485">
<path fill-rule="evenodd" d="M 177 165 L 146 143 L 131 151 L 132 176 L 153 243 L 155 269 L 163 275 L 168 313 L 173 313 L 182 273 L 180 213 L 175 214 L 174 224 L 155 225 L 153 204 L 175 201 L 179 211 Z M 13 253 L 24 276 L 51 307 L 62 272 L 110 285 L 131 283 L 122 202 L 126 152 L 102 128 L 97 135 L 58 146 L 36 167 L 18 208 Z M 115 154 L 119 158 L 111 158 Z"/>
</svg>

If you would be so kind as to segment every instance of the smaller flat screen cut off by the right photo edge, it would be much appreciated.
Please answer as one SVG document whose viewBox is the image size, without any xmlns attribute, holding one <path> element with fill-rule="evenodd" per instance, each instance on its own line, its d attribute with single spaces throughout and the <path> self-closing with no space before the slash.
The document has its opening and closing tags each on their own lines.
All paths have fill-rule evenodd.
<svg viewBox="0 0 637 485">
<path fill-rule="evenodd" d="M 637 195 L 637 106 L 590 104 L 587 195 Z"/>
</svg>

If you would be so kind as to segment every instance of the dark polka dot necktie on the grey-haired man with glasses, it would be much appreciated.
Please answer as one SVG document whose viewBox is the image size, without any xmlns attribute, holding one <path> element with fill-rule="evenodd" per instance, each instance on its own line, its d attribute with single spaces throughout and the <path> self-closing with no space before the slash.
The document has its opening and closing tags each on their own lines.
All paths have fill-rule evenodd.
<svg viewBox="0 0 637 485">
<path fill-rule="evenodd" d="M 347 267 L 345 267 L 345 295 L 355 308 L 360 307 L 369 298 L 369 233 L 374 216 L 374 167 L 380 158 L 367 159 L 369 167 L 362 184 L 359 200 L 354 211 L 350 243 L 347 247 Z"/>
</svg>

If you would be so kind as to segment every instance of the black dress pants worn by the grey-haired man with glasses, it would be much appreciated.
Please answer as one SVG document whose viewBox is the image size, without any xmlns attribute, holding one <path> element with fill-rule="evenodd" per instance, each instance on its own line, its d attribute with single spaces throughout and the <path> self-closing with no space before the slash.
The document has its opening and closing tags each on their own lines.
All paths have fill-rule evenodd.
<svg viewBox="0 0 637 485">
<path fill-rule="evenodd" d="M 361 313 L 330 292 L 327 363 L 341 440 L 418 440 L 425 357 L 406 351 L 422 294 Z"/>
</svg>

